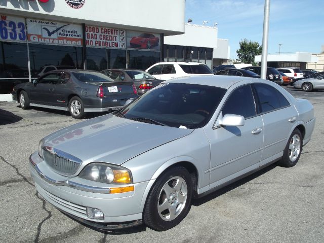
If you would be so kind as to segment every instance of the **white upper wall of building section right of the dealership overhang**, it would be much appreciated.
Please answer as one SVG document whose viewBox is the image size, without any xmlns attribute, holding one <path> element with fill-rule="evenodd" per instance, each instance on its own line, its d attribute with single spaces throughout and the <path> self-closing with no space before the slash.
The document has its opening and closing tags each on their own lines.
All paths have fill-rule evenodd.
<svg viewBox="0 0 324 243">
<path fill-rule="evenodd" d="M 194 47 L 217 47 L 217 27 L 185 24 L 185 33 L 165 37 L 164 44 Z"/>
</svg>

